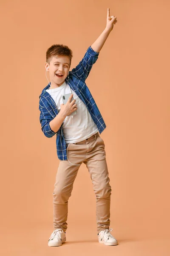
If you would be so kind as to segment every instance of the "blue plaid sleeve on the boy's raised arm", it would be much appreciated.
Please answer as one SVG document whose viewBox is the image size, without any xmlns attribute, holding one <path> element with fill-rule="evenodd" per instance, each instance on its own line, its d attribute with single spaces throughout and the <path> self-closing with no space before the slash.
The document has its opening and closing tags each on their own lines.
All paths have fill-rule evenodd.
<svg viewBox="0 0 170 256">
<path fill-rule="evenodd" d="M 93 64 L 98 59 L 99 52 L 95 52 L 91 46 L 88 47 L 85 52 L 84 57 L 79 62 L 79 64 L 71 70 L 71 73 L 74 74 L 78 79 L 85 81 L 87 79 Z"/>
</svg>

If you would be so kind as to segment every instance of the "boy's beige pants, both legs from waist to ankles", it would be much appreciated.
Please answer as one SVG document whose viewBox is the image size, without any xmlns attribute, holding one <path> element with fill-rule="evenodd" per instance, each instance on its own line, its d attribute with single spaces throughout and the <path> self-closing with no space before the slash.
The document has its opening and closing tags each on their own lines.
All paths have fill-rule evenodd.
<svg viewBox="0 0 170 256">
<path fill-rule="evenodd" d="M 68 160 L 74 164 L 85 163 L 90 173 L 96 195 L 97 232 L 109 229 L 112 189 L 109 184 L 104 141 L 97 132 L 86 140 L 66 145 Z M 53 192 L 54 229 L 61 228 L 63 231 L 67 230 L 68 199 L 80 167 L 69 165 L 68 160 L 59 160 Z"/>
</svg>

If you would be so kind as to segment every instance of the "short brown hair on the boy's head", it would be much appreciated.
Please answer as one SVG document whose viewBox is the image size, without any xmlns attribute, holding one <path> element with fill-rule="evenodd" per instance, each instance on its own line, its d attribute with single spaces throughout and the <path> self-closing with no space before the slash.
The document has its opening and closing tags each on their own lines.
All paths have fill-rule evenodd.
<svg viewBox="0 0 170 256">
<path fill-rule="evenodd" d="M 53 44 L 51 47 L 49 47 L 46 51 L 46 62 L 50 64 L 51 58 L 53 56 L 68 56 L 70 58 L 70 66 L 71 66 L 71 58 L 73 57 L 72 50 L 67 46 L 63 44 Z"/>
</svg>

